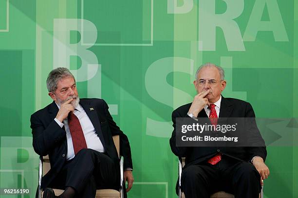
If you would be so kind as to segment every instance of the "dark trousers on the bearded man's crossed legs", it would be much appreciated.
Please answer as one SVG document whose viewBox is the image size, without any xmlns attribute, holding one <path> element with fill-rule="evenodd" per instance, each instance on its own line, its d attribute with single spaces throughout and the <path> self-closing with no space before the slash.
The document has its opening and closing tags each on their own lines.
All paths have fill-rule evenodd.
<svg viewBox="0 0 298 198">
<path fill-rule="evenodd" d="M 94 198 L 96 189 L 119 190 L 119 168 L 104 153 L 90 148 L 81 149 L 67 161 L 48 187 L 75 189 L 76 198 Z"/>
</svg>

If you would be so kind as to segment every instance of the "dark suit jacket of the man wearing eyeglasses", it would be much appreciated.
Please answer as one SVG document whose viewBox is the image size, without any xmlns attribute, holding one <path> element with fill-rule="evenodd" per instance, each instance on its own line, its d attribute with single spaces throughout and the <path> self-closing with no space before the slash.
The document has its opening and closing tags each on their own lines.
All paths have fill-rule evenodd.
<svg viewBox="0 0 298 198">
<path fill-rule="evenodd" d="M 176 117 L 189 117 L 187 112 L 190 106 L 191 103 L 183 105 L 173 111 L 172 121 L 174 131 L 169 140 L 172 152 L 178 157 L 186 158 L 185 167 L 187 167 L 187 165 L 204 162 L 214 156 L 217 152 L 221 152 L 223 155 L 240 161 L 251 162 L 254 156 L 260 156 L 265 161 L 267 155 L 266 147 L 176 147 Z M 198 117 L 207 117 L 204 109 L 202 109 Z M 219 117 L 255 117 L 255 113 L 250 103 L 240 99 L 223 98 L 222 96 Z M 257 127 L 256 130 L 257 135 L 259 135 L 261 141 L 263 141 Z"/>
</svg>

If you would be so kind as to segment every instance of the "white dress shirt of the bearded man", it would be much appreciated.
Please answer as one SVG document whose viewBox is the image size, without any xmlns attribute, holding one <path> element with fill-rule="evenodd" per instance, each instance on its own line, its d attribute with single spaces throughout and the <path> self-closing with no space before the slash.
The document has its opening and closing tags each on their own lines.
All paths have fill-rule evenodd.
<svg viewBox="0 0 298 198">
<path fill-rule="evenodd" d="M 57 103 L 56 103 L 57 104 Z M 60 106 L 57 104 L 58 108 L 60 109 Z M 86 114 L 85 110 L 83 107 L 79 104 L 75 108 L 74 112 L 75 116 L 77 116 L 87 144 L 87 148 L 91 148 L 93 150 L 97 150 L 99 152 L 105 152 L 105 148 L 102 145 L 102 142 L 100 141 L 99 137 L 97 136 L 97 133 L 95 132 L 95 129 L 93 127 L 93 124 Z M 55 121 L 57 124 L 62 128 L 63 126 L 65 127 L 66 131 L 66 138 L 67 138 L 67 155 L 66 155 L 66 160 L 71 160 L 75 157 L 75 151 L 74 151 L 74 146 L 73 146 L 73 140 L 72 140 L 72 135 L 69 130 L 68 126 L 68 120 L 67 118 L 63 120 L 63 123 L 61 123 L 57 118 L 55 118 Z"/>
</svg>

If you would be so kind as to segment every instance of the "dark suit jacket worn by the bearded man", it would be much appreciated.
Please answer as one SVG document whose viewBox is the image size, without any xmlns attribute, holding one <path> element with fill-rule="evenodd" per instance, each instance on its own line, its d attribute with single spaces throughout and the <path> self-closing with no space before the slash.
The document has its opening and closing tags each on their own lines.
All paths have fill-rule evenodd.
<svg viewBox="0 0 298 198">
<path fill-rule="evenodd" d="M 132 168 L 130 143 L 127 136 L 113 121 L 108 111 L 108 104 L 103 99 L 80 99 L 80 105 L 90 118 L 107 155 L 119 167 L 119 158 L 112 136 L 120 136 L 120 155 L 124 157 L 124 169 Z M 58 107 L 53 101 L 45 108 L 31 115 L 33 148 L 38 155 L 49 155 L 51 170 L 42 178 L 42 187 L 48 186 L 66 161 L 66 132 L 56 123 L 54 118 Z"/>
</svg>

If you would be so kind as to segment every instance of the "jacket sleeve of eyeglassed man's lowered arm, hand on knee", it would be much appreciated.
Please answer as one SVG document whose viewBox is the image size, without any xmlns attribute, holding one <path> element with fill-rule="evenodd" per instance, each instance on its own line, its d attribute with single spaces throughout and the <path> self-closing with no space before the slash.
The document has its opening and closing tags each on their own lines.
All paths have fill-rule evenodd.
<svg viewBox="0 0 298 198">
<path fill-rule="evenodd" d="M 247 103 L 246 105 L 246 110 L 245 110 L 245 117 L 248 118 L 252 118 L 252 119 L 248 119 L 246 122 L 247 126 L 249 126 L 248 128 L 248 132 L 249 132 L 249 138 L 252 144 L 256 143 L 256 146 L 252 147 L 248 147 L 248 154 L 249 154 L 249 162 L 251 162 L 252 158 L 255 156 L 260 156 L 261 158 L 263 158 L 264 162 L 266 160 L 266 156 L 267 156 L 267 150 L 266 150 L 266 146 L 265 146 L 265 142 L 263 140 L 263 138 L 261 137 L 261 133 L 258 129 L 257 123 L 256 123 L 256 119 L 255 119 L 255 112 L 251 106 L 250 103 Z M 263 145 L 263 146 L 262 146 Z"/>
</svg>

